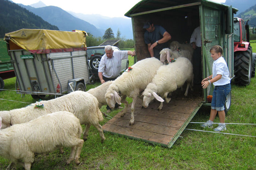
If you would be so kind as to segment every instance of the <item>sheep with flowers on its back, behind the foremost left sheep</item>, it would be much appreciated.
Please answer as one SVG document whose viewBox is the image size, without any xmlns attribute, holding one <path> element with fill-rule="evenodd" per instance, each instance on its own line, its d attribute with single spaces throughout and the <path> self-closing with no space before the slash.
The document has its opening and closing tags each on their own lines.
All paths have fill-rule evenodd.
<svg viewBox="0 0 256 170">
<path fill-rule="evenodd" d="M 91 124 L 99 131 L 101 142 L 105 140 L 102 127 L 99 124 L 99 121 L 103 121 L 103 116 L 98 108 L 98 100 L 92 94 L 75 91 L 52 100 L 40 101 L 40 103 L 44 105 L 43 108 L 35 108 L 35 105 L 38 104 L 36 102 L 24 108 L 0 111 L 0 117 L 3 119 L 2 128 L 25 123 L 48 113 L 68 111 L 78 117 L 80 124 L 87 124 L 83 132 L 84 140 L 87 140 Z"/>
</svg>

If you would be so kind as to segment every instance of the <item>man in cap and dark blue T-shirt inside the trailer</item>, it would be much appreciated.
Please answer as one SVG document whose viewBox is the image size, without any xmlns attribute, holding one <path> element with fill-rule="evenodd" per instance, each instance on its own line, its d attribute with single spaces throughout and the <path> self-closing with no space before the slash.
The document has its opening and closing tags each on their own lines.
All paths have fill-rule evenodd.
<svg viewBox="0 0 256 170">
<path fill-rule="evenodd" d="M 147 21 L 144 23 L 143 28 L 147 31 L 144 33 L 144 42 L 148 46 L 148 52 L 151 57 L 160 59 L 159 52 L 168 48 L 168 43 L 172 36 L 162 26 L 154 25 L 152 22 Z"/>
</svg>

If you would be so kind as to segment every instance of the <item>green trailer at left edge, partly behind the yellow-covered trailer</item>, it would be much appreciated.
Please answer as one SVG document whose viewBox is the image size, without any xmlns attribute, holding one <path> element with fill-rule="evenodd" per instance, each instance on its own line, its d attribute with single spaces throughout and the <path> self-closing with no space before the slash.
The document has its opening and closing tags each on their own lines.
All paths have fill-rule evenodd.
<svg viewBox="0 0 256 170">
<path fill-rule="evenodd" d="M 4 88 L 4 80 L 15 77 L 11 58 L 8 55 L 6 42 L 0 39 L 0 90 Z"/>
</svg>

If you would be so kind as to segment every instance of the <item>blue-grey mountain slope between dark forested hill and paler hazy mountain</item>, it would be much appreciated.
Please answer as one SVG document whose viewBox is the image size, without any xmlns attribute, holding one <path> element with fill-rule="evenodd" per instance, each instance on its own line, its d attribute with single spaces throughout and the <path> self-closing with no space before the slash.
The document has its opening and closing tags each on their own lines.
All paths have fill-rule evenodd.
<svg viewBox="0 0 256 170">
<path fill-rule="evenodd" d="M 82 30 L 90 32 L 92 35 L 98 37 L 103 36 L 102 31 L 97 29 L 94 25 L 74 17 L 70 13 L 64 11 L 63 9 L 55 6 L 46 6 L 41 8 L 34 8 L 30 5 L 19 4 L 20 6 L 26 8 L 30 12 L 42 17 L 45 21 L 55 24 L 61 31 L 72 31 L 72 30 Z"/>
</svg>

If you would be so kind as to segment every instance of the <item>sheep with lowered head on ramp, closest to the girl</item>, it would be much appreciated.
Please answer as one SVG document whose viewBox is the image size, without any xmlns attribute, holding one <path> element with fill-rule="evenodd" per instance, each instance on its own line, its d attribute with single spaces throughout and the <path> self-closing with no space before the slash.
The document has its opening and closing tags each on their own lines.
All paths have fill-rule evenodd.
<svg viewBox="0 0 256 170">
<path fill-rule="evenodd" d="M 187 82 L 185 96 L 188 95 L 189 86 L 193 85 L 193 66 L 185 57 L 179 57 L 175 62 L 160 66 L 151 83 L 149 83 L 142 93 L 143 107 L 147 108 L 154 98 L 161 101 L 158 110 L 163 107 L 163 98 L 169 103 L 171 98 L 167 95 Z M 192 89 L 192 88 L 191 88 Z M 158 96 L 159 94 L 160 96 Z"/>
</svg>

